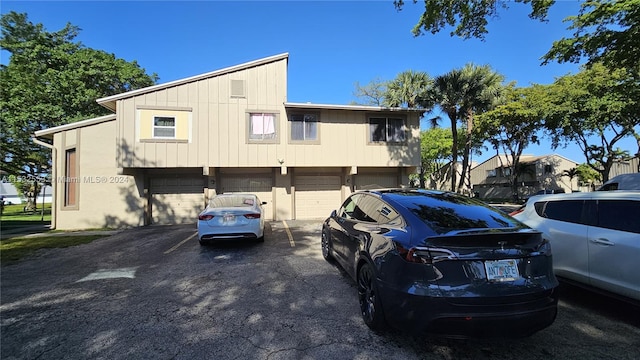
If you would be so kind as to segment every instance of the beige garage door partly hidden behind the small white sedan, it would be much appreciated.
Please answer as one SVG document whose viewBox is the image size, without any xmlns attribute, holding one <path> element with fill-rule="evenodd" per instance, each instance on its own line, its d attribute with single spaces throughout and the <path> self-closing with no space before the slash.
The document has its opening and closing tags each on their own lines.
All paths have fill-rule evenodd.
<svg viewBox="0 0 640 360">
<path fill-rule="evenodd" d="M 255 194 L 263 205 L 265 220 L 273 220 L 273 178 L 265 174 L 222 175 L 221 193 L 246 192 Z"/>
</svg>

